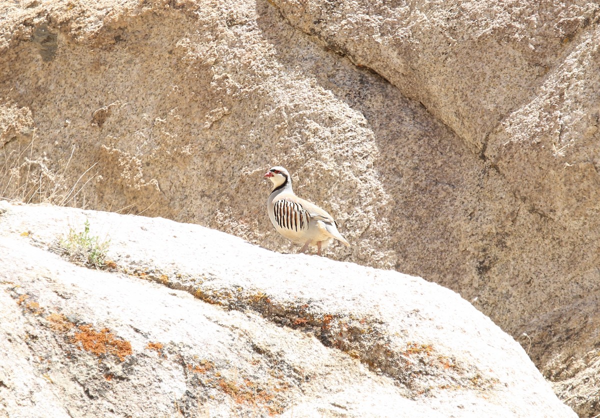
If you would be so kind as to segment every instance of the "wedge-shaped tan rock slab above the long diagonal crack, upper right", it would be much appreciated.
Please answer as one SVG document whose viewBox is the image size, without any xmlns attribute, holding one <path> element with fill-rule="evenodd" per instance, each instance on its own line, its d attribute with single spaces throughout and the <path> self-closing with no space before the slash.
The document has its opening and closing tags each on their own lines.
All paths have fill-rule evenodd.
<svg viewBox="0 0 600 418">
<path fill-rule="evenodd" d="M 373 68 L 477 151 L 549 71 L 560 71 L 566 54 L 595 37 L 600 17 L 600 5 L 585 0 L 274 3 L 292 25 Z"/>
</svg>

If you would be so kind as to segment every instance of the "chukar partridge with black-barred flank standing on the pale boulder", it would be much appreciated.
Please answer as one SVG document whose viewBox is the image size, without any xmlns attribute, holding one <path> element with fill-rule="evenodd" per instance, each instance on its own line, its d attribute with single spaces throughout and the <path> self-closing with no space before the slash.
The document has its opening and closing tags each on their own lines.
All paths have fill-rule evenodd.
<svg viewBox="0 0 600 418">
<path fill-rule="evenodd" d="M 329 213 L 296 196 L 292 190 L 292 177 L 286 169 L 271 167 L 264 177 L 273 184 L 266 203 L 269 219 L 278 233 L 303 244 L 300 252 L 305 252 L 309 245 L 316 245 L 317 254 L 321 255 L 321 248 L 329 245 L 333 239 L 350 246 Z"/>
</svg>

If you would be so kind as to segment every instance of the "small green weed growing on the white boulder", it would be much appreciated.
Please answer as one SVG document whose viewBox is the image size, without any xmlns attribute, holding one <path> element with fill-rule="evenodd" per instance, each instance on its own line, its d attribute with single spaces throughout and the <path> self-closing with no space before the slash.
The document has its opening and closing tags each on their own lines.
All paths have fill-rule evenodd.
<svg viewBox="0 0 600 418">
<path fill-rule="evenodd" d="M 57 252 L 67 255 L 74 263 L 101 269 L 106 265 L 106 250 L 110 240 L 100 242 L 97 236 L 89 234 L 89 221 L 86 219 L 83 232 L 70 228 L 66 237 L 56 244 Z"/>
</svg>

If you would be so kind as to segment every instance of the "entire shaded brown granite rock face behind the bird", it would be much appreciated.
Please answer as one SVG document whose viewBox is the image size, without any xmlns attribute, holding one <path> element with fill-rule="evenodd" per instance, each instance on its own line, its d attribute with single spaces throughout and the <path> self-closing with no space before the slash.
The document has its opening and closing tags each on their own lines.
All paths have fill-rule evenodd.
<svg viewBox="0 0 600 418">
<path fill-rule="evenodd" d="M 331 257 L 459 292 L 600 413 L 598 2 L 32 0 L 0 16 L 2 197 L 289 251 L 261 178 L 286 166 L 353 243 Z"/>
</svg>

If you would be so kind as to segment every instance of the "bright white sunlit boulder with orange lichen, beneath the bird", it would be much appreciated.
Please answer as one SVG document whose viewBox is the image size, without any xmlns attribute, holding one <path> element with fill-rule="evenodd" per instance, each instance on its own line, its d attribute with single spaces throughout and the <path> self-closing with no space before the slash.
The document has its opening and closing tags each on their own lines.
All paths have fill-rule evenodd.
<svg viewBox="0 0 600 418">
<path fill-rule="evenodd" d="M 514 339 L 421 278 L 161 218 L 0 213 L 6 416 L 575 417 Z M 109 270 L 48 251 L 86 221 Z"/>
</svg>

